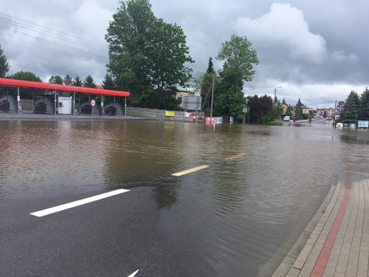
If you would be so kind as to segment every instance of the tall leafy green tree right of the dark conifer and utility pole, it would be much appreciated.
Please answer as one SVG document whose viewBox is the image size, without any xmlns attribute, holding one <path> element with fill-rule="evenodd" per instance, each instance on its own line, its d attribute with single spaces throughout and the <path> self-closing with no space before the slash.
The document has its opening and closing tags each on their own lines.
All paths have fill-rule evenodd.
<svg viewBox="0 0 369 277">
<path fill-rule="evenodd" d="M 256 51 L 246 37 L 233 34 L 229 41 L 222 43 L 216 59 L 224 61 L 220 72 L 220 88 L 214 99 L 215 112 L 221 116 L 242 116 L 245 96 L 244 82 L 252 81 L 258 64 Z"/>
</svg>

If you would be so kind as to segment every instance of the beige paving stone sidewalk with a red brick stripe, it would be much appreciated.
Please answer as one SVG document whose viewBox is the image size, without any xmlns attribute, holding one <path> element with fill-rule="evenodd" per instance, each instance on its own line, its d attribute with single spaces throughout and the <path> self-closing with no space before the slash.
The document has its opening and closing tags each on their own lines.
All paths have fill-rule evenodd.
<svg viewBox="0 0 369 277">
<path fill-rule="evenodd" d="M 286 277 L 369 277 L 369 180 L 338 182 Z M 291 258 L 291 257 L 290 257 Z M 280 272 L 274 276 L 281 276 Z"/>
</svg>

